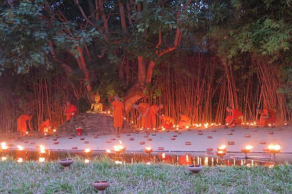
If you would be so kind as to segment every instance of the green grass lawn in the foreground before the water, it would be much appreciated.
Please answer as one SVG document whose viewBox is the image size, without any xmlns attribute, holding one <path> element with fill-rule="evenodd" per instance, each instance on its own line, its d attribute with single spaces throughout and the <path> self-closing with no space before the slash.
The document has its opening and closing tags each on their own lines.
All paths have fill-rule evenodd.
<svg viewBox="0 0 292 194">
<path fill-rule="evenodd" d="M 186 166 L 164 163 L 118 165 L 106 158 L 69 172 L 57 162 L 0 162 L 2 194 L 93 194 L 91 183 L 109 180 L 107 194 L 291 194 L 292 165 L 204 167 L 191 175 Z"/>
</svg>

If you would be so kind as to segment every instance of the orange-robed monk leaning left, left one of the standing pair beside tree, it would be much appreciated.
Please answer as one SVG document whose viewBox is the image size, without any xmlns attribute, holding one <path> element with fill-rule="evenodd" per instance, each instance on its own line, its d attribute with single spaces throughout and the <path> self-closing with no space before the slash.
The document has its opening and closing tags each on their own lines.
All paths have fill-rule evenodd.
<svg viewBox="0 0 292 194">
<path fill-rule="evenodd" d="M 141 119 L 141 128 L 150 129 L 151 127 L 151 111 L 150 107 L 146 103 L 134 104 L 134 109 L 139 111 L 138 120 Z"/>
</svg>

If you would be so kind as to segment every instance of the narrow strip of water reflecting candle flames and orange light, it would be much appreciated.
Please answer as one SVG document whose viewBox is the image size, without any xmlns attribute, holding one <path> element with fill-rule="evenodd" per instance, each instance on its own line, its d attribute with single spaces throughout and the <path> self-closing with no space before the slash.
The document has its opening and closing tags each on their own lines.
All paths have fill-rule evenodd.
<svg viewBox="0 0 292 194">
<path fill-rule="evenodd" d="M 253 158 L 250 159 L 242 159 L 242 158 L 233 158 L 234 155 L 229 154 L 228 157 L 220 158 L 217 157 L 216 154 L 210 153 L 137 153 L 137 152 L 126 152 L 125 153 L 107 153 L 107 152 L 92 152 L 91 154 L 86 154 L 83 151 L 51 151 L 47 152 L 39 152 L 39 151 L 28 151 L 28 150 L 8 150 L 0 153 L 1 161 L 5 162 L 8 157 L 13 157 L 17 162 L 24 161 L 56 161 L 60 159 L 65 159 L 68 157 L 79 156 L 84 158 L 85 163 L 89 163 L 92 158 L 97 156 L 107 155 L 110 159 L 112 159 L 116 164 L 124 164 L 124 163 L 137 163 L 144 162 L 147 164 L 156 163 L 156 162 L 164 162 L 174 165 L 190 165 L 190 164 L 200 164 L 205 166 L 215 166 L 215 165 L 245 165 L 248 167 L 254 165 L 265 165 L 270 168 L 274 167 L 275 164 L 281 163 L 292 163 L 292 154 L 277 154 L 275 160 L 265 159 L 266 155 L 261 155 L 261 159 Z M 236 154 L 240 155 L 240 154 Z M 256 156 L 256 154 L 254 154 Z M 257 154 L 260 155 L 260 154 Z M 227 155 L 226 155 L 227 156 Z M 241 155 L 244 156 L 244 155 Z"/>
</svg>

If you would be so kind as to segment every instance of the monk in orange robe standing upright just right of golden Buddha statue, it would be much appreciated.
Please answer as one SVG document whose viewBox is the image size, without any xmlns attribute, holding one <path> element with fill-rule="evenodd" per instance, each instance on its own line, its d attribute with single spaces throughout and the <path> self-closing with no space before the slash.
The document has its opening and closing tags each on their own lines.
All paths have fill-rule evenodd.
<svg viewBox="0 0 292 194">
<path fill-rule="evenodd" d="M 121 133 L 123 127 L 124 104 L 119 100 L 118 96 L 115 96 L 111 105 L 113 109 L 113 127 L 116 129 L 116 133 Z"/>
</svg>

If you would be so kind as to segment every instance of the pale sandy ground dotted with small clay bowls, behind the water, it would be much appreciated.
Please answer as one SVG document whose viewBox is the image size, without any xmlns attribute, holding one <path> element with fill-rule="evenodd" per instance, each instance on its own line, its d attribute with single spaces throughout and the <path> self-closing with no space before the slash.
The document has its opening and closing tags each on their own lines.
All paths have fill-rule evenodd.
<svg viewBox="0 0 292 194">
<path fill-rule="evenodd" d="M 116 135 L 99 135 L 98 138 L 93 136 L 83 135 L 76 136 L 73 139 L 68 139 L 69 136 L 62 136 L 57 138 L 59 144 L 54 144 L 54 135 L 45 137 L 42 135 L 41 139 L 38 139 L 39 133 L 29 134 L 28 136 L 22 136 L 20 140 L 16 134 L 2 134 L 0 136 L 0 142 L 5 141 L 6 145 L 10 145 L 11 148 L 17 148 L 17 145 L 23 146 L 25 149 L 38 149 L 36 146 L 43 145 L 46 149 L 51 150 L 72 150 L 73 146 L 78 147 L 77 150 L 84 150 L 85 148 L 91 148 L 91 150 L 104 151 L 105 149 L 113 149 L 114 145 L 119 144 L 119 140 L 122 141 L 126 151 L 143 151 L 146 146 L 153 148 L 153 151 L 159 151 L 158 147 L 164 147 L 164 152 L 204 152 L 206 148 L 217 149 L 222 144 L 228 146 L 227 151 L 237 152 L 241 148 L 247 145 L 254 146 L 253 152 L 263 152 L 263 148 L 267 148 L 269 144 L 278 144 L 281 146 L 282 153 L 292 153 L 292 127 L 282 126 L 275 128 L 254 128 L 250 127 L 232 127 L 224 129 L 223 127 L 214 127 L 211 129 L 202 129 L 202 135 L 198 135 L 198 130 L 191 129 L 183 130 L 182 134 L 177 134 L 174 131 L 169 132 L 149 132 L 148 138 L 152 140 L 147 140 L 145 132 L 136 133 L 122 133 L 121 137 L 116 137 Z M 212 132 L 212 130 L 216 130 Z M 232 131 L 232 135 L 228 133 Z M 273 131 L 274 134 L 269 134 L 269 131 Z M 130 136 L 128 136 L 130 134 Z M 154 134 L 154 135 L 153 135 Z M 250 137 L 245 137 L 249 134 Z M 175 140 L 170 138 L 173 135 L 177 135 Z M 207 136 L 212 136 L 211 139 Z M 13 138 L 8 138 L 13 137 Z M 20 136 L 19 136 L 20 137 Z M 84 137 L 84 140 L 80 138 Z M 129 138 L 134 138 L 130 141 Z M 48 139 L 45 139 L 48 138 Z M 115 138 L 115 140 L 111 140 Z M 89 144 L 85 144 L 88 141 Z M 110 141 L 111 143 L 106 143 Z M 191 142 L 190 146 L 186 146 L 185 142 Z M 234 141 L 235 145 L 228 145 L 229 141 Z M 266 144 L 260 144 L 261 141 L 265 141 Z M 31 144 L 35 142 L 34 144 Z M 145 142 L 145 145 L 140 145 L 140 142 Z"/>
</svg>

